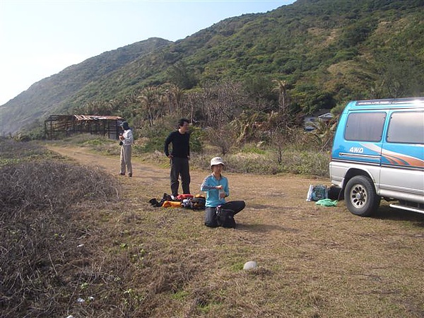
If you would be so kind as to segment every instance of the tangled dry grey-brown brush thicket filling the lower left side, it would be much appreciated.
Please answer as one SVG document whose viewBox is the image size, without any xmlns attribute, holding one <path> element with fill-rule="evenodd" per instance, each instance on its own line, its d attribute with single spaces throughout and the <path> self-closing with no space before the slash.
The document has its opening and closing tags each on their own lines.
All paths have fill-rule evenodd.
<svg viewBox="0 0 424 318">
<path fill-rule="evenodd" d="M 64 299 L 87 278 L 68 272 L 73 266 L 67 264 L 87 257 L 76 248 L 87 229 L 72 222 L 73 211 L 78 205 L 95 210 L 117 198 L 114 179 L 98 169 L 52 160 L 30 143 L 1 141 L 0 157 L 1 312 L 65 317 L 63 303 L 69 300 Z"/>
</svg>

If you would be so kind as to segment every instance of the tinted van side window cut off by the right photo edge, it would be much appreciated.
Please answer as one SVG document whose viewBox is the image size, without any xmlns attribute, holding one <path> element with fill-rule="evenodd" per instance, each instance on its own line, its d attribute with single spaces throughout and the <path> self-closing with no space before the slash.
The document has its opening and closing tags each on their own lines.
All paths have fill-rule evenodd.
<svg viewBox="0 0 424 318">
<path fill-rule="evenodd" d="M 393 112 L 387 142 L 424 143 L 424 112 Z"/>
</svg>

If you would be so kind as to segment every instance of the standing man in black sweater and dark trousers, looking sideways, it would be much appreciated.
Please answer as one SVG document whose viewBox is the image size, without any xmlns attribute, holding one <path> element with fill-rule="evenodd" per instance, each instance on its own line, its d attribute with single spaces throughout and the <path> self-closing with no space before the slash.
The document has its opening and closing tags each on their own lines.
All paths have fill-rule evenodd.
<svg viewBox="0 0 424 318">
<path fill-rule="evenodd" d="M 179 181 L 181 175 L 181 186 L 184 194 L 190 193 L 190 146 L 189 146 L 189 120 L 182 118 L 178 122 L 179 129 L 172 131 L 165 140 L 165 155 L 171 160 L 171 192 L 172 196 L 178 195 Z M 171 153 L 168 146 L 172 143 Z"/>
</svg>

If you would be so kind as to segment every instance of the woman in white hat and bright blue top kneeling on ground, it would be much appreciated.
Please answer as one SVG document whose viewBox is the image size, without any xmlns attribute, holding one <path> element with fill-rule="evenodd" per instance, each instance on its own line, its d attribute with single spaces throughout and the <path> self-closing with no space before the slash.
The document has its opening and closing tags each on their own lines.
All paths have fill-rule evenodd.
<svg viewBox="0 0 424 318">
<path fill-rule="evenodd" d="M 211 160 L 211 175 L 208 175 L 201 184 L 201 191 L 206 192 L 205 225 L 211 228 L 218 226 L 216 219 L 216 207 L 234 211 L 233 215 L 245 208 L 245 201 L 225 202 L 225 197 L 230 195 L 228 179 L 221 175 L 224 163 L 220 157 Z"/>
</svg>

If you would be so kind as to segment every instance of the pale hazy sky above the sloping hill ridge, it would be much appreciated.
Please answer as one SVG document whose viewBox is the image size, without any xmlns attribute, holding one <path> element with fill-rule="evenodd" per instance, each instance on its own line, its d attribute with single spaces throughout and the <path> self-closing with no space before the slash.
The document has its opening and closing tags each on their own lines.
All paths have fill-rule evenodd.
<svg viewBox="0 0 424 318">
<path fill-rule="evenodd" d="M 0 105 L 33 83 L 125 45 L 176 41 L 295 0 L 0 0 Z"/>
</svg>

